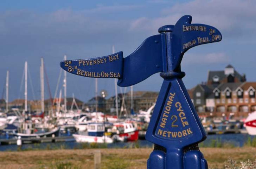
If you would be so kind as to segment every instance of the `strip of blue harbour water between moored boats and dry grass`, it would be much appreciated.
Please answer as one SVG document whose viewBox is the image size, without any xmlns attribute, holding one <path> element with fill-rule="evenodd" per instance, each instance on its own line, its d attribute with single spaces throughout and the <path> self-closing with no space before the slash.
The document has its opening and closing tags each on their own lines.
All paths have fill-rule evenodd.
<svg viewBox="0 0 256 169">
<path fill-rule="evenodd" d="M 211 147 L 216 144 L 216 142 L 221 143 L 222 147 L 232 146 L 232 147 L 242 147 L 247 144 L 248 140 L 255 139 L 256 136 L 250 136 L 248 134 L 217 134 L 208 135 L 207 139 L 200 143 L 200 146 Z M 151 142 L 147 140 L 138 140 L 137 142 L 116 142 L 107 144 L 107 148 L 148 148 L 153 147 Z M 21 150 L 33 150 L 33 149 L 83 149 L 87 148 L 86 143 L 78 143 L 71 139 L 67 142 L 55 142 L 55 143 L 33 143 L 24 144 L 20 148 Z M 0 151 L 17 151 L 19 148 L 17 145 L 0 145 Z"/>
</svg>

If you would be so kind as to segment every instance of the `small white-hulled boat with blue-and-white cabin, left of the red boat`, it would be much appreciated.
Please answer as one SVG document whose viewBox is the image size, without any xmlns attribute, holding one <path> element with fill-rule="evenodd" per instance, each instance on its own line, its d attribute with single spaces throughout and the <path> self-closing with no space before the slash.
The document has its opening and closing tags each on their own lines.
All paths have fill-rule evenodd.
<svg viewBox="0 0 256 169">
<path fill-rule="evenodd" d="M 77 142 L 113 143 L 114 140 L 109 136 L 104 135 L 104 133 L 104 123 L 93 122 L 88 124 L 87 132 L 79 132 L 79 134 L 73 134 L 73 137 Z"/>
</svg>

